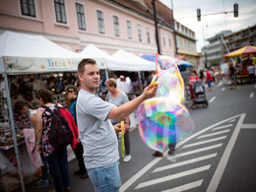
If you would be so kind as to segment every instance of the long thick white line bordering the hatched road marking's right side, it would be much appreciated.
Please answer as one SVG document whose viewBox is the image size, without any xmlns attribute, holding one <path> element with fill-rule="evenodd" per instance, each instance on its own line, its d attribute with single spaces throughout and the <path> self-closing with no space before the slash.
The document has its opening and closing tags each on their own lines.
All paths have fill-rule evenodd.
<svg viewBox="0 0 256 192">
<path fill-rule="evenodd" d="M 207 192 L 217 191 L 220 180 L 221 180 L 221 178 L 223 176 L 223 173 L 224 173 L 224 168 L 225 168 L 226 163 L 227 163 L 227 161 L 230 157 L 230 154 L 232 152 L 234 143 L 235 143 L 235 141 L 237 139 L 237 136 L 239 134 L 239 131 L 241 129 L 242 122 L 245 118 L 245 115 L 246 114 L 244 114 L 244 113 L 241 114 L 241 117 L 239 118 L 239 120 L 236 124 L 236 127 L 233 131 L 233 134 L 232 134 L 232 136 L 231 136 L 231 138 L 230 138 L 230 140 L 229 140 L 229 142 L 228 142 L 228 144 L 227 144 L 227 146 L 224 150 L 224 155 L 223 155 L 223 157 L 222 157 L 222 159 L 221 159 L 221 161 L 220 161 L 220 163 L 219 163 L 219 165 L 218 165 L 218 167 L 215 171 L 215 174 L 214 174 L 214 176 L 213 176 L 213 178 L 212 178 L 212 180 L 211 180 L 211 182 L 208 186 Z"/>
</svg>

